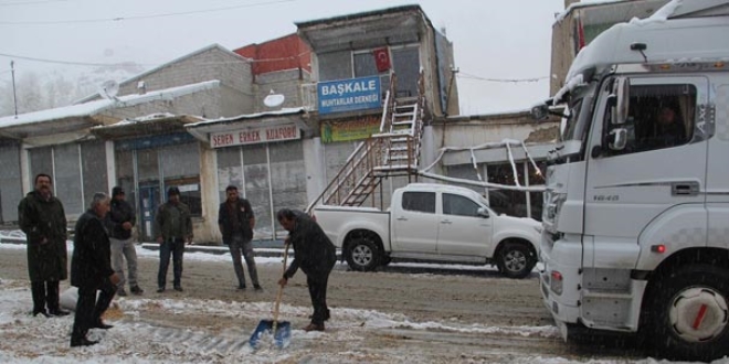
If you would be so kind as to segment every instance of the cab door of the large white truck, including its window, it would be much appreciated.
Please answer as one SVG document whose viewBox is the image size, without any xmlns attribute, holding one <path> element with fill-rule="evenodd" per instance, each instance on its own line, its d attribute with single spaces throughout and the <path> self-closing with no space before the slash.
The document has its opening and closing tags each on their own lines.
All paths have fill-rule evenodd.
<svg viewBox="0 0 729 364">
<path fill-rule="evenodd" d="M 706 222 L 707 143 L 696 122 L 698 105 L 707 99 L 706 78 L 625 79 L 630 83 L 625 124 L 611 122 L 611 113 L 620 107 L 608 101 L 608 94 L 615 95 L 611 83 L 603 84 L 595 106 L 584 196 L 584 234 L 594 238 L 594 245 L 585 246 L 585 267 L 633 269 L 641 250 L 637 243 L 643 244 L 638 238 L 655 240 L 648 245 L 680 238 L 677 233 L 651 237 L 646 227 L 678 232 L 680 225 Z M 625 147 L 610 148 L 611 135 L 621 132 Z"/>
</svg>

